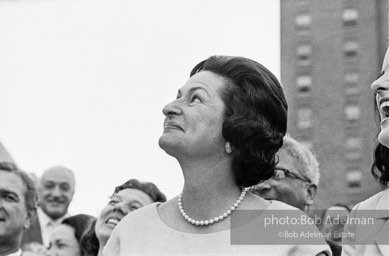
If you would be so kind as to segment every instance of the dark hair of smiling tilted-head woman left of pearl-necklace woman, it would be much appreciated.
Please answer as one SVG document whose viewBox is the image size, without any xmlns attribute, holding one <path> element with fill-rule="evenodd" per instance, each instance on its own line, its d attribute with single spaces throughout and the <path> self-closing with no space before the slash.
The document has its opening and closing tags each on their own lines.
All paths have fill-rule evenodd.
<svg viewBox="0 0 389 256">
<path fill-rule="evenodd" d="M 159 190 L 159 188 L 152 182 L 141 182 L 137 179 L 130 179 L 126 182 L 124 182 L 122 185 L 117 186 L 115 188 L 115 191 L 113 192 L 113 195 L 118 193 L 119 191 L 123 189 L 128 189 L 128 188 L 134 188 L 138 189 L 140 191 L 143 191 L 149 197 L 154 201 L 154 202 L 166 202 L 166 196 Z"/>
</svg>

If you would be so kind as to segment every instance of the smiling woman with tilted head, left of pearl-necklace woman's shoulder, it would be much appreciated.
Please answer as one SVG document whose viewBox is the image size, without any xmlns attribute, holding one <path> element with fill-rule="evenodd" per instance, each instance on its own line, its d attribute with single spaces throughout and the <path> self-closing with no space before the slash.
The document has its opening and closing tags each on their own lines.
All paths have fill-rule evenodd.
<svg viewBox="0 0 389 256">
<path fill-rule="evenodd" d="M 108 204 L 97 218 L 96 225 L 82 241 L 82 244 L 98 244 L 98 256 L 103 255 L 103 248 L 113 229 L 127 214 L 154 202 L 165 202 L 166 196 L 151 182 L 128 180 L 115 188 Z"/>
</svg>

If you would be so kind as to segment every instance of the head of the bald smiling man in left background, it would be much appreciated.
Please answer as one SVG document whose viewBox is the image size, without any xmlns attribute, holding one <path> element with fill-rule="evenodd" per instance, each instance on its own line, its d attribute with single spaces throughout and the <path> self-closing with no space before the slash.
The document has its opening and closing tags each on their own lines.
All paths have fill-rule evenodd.
<svg viewBox="0 0 389 256">
<path fill-rule="evenodd" d="M 38 186 L 39 206 L 51 219 L 64 216 L 73 199 L 75 188 L 74 173 L 63 166 L 46 169 Z"/>
</svg>

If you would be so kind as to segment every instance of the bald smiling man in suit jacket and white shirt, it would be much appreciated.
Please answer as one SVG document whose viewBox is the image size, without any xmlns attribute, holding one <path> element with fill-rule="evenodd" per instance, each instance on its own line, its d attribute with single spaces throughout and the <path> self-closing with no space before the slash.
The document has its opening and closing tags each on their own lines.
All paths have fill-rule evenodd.
<svg viewBox="0 0 389 256">
<path fill-rule="evenodd" d="M 38 182 L 38 218 L 24 235 L 23 244 L 37 242 L 49 245 L 53 229 L 69 217 L 68 208 L 75 189 L 74 173 L 66 167 L 45 170 Z"/>
</svg>

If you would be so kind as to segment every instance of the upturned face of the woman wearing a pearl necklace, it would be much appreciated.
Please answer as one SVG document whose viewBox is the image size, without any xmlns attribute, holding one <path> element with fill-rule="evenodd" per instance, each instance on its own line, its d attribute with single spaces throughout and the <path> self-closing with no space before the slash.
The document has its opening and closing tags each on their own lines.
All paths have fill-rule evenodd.
<svg viewBox="0 0 389 256">
<path fill-rule="evenodd" d="M 222 136 L 225 79 L 210 71 L 192 76 L 178 90 L 176 100 L 166 105 L 160 147 L 174 157 L 208 157 L 224 154 Z"/>
</svg>

